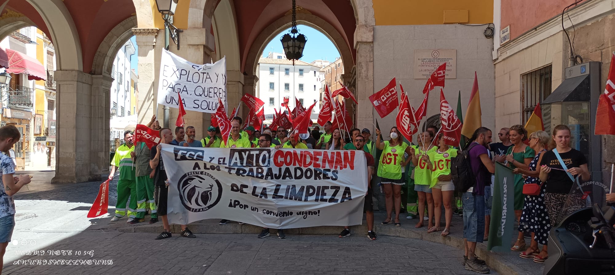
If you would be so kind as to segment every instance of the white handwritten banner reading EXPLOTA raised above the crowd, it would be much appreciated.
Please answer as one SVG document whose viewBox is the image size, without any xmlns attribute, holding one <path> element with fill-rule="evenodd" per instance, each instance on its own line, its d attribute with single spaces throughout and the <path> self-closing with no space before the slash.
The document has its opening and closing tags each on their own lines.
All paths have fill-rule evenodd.
<svg viewBox="0 0 615 275">
<path fill-rule="evenodd" d="M 226 57 L 213 64 L 194 64 L 162 49 L 158 80 L 158 104 L 185 110 L 215 113 L 218 98 L 226 104 Z"/>
</svg>

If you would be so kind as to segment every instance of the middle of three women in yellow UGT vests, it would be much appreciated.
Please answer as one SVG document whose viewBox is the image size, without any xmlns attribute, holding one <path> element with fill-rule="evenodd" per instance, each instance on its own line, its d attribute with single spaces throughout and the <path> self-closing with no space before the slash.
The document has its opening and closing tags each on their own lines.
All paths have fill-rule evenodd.
<svg viewBox="0 0 615 275">
<path fill-rule="evenodd" d="M 416 223 L 416 228 L 423 227 L 423 220 L 425 215 L 425 201 L 427 201 L 427 229 L 430 230 L 434 227 L 434 198 L 432 196 L 431 187 L 431 170 L 427 168 L 427 162 L 423 159 L 423 155 L 431 153 L 436 150 L 436 147 L 432 145 L 434 139 L 434 132 L 424 131 L 419 138 L 419 146 L 416 148 L 416 152 L 412 155 L 412 163 L 415 165 L 415 191 L 418 194 L 419 204 L 419 222 Z"/>
</svg>

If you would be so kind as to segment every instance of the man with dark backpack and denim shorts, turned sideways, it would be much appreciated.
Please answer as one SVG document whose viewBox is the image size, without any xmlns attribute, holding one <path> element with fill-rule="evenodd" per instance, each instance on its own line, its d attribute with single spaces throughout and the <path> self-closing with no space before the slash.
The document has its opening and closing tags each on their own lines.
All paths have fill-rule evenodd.
<svg viewBox="0 0 615 275">
<path fill-rule="evenodd" d="M 462 264 L 467 270 L 489 273 L 484 260 L 475 254 L 477 242 L 483 242 L 485 230 L 485 185 L 491 182 L 495 166 L 487 152 L 491 130 L 480 127 L 451 165 L 455 189 L 463 193 L 463 237 L 465 253 Z M 466 190 L 463 190 L 466 189 Z"/>
</svg>

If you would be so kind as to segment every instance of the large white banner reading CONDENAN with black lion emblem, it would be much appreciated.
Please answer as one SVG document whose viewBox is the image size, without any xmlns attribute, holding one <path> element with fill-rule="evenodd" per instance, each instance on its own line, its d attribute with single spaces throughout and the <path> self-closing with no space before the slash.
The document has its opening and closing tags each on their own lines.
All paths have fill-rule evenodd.
<svg viewBox="0 0 615 275">
<path fill-rule="evenodd" d="M 228 219 L 268 228 L 358 225 L 367 193 L 361 150 L 162 145 L 169 222 Z"/>
</svg>

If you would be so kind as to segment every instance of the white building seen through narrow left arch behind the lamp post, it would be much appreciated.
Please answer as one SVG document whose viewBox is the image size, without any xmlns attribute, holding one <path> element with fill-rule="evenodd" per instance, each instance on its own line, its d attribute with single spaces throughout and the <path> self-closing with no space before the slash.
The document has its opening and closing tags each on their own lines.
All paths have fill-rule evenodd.
<svg viewBox="0 0 615 275">
<path fill-rule="evenodd" d="M 124 43 L 121 50 L 117 52 L 116 58 L 113 61 L 113 68 L 111 69 L 111 77 L 114 78 L 111 85 L 111 120 L 117 117 L 127 117 L 129 115 L 136 115 L 135 109 L 132 107 L 135 104 L 131 104 L 131 85 L 130 77 L 132 71 L 130 70 L 130 60 L 137 58 L 135 55 L 136 48 L 130 39 Z M 113 125 L 111 125 L 113 126 Z M 124 131 L 111 130 L 109 139 L 124 138 Z"/>
</svg>

